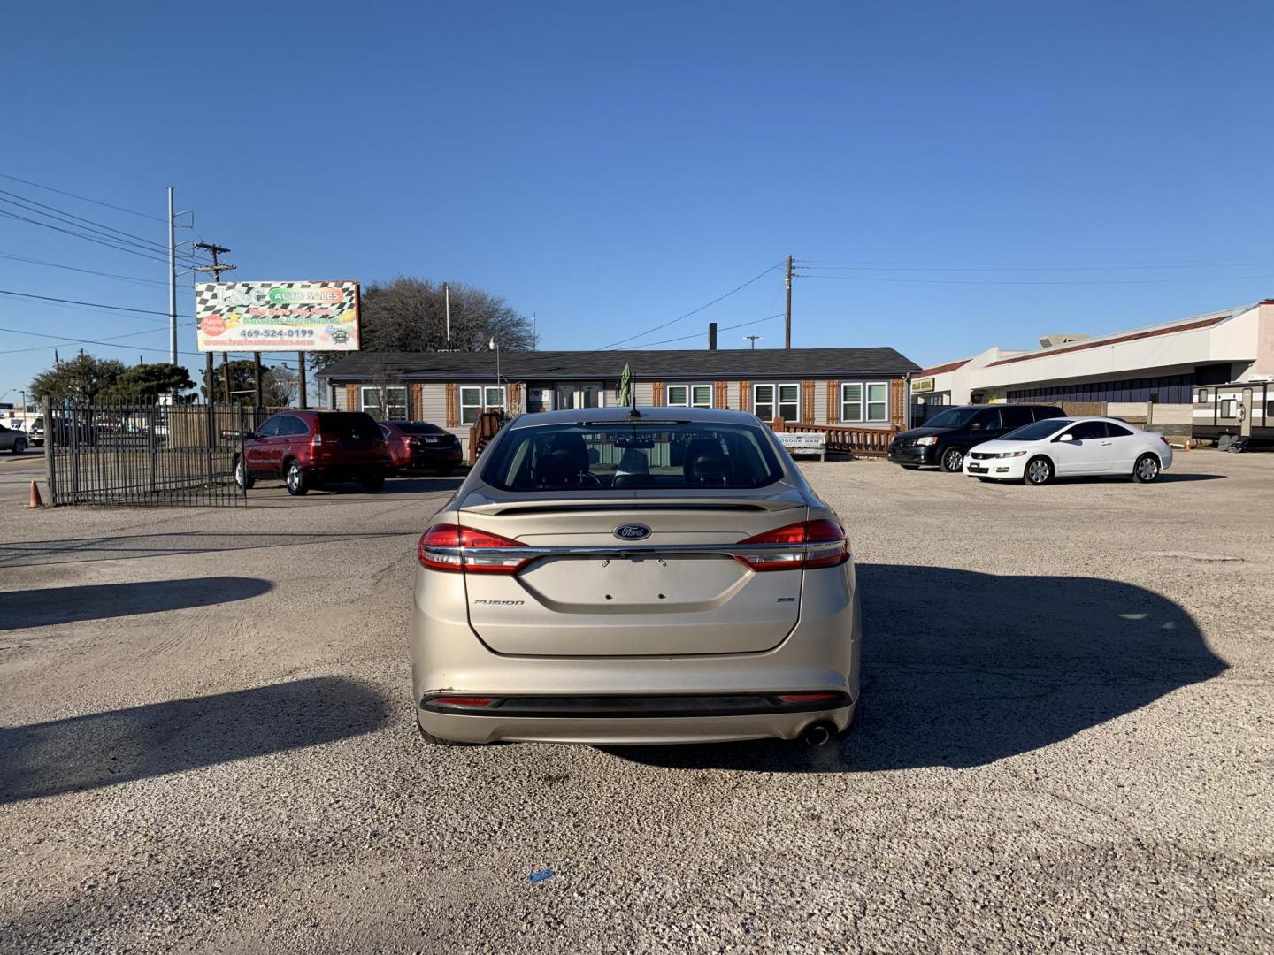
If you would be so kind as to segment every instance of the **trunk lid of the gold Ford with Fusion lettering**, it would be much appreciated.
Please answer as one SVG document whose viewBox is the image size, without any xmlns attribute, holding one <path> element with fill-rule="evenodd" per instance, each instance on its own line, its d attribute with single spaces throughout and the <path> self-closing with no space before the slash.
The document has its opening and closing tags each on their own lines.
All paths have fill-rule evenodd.
<svg viewBox="0 0 1274 955">
<path fill-rule="evenodd" d="M 755 573 L 730 545 L 805 513 L 791 488 L 478 499 L 460 523 L 535 550 L 512 576 L 466 574 L 470 624 L 497 653 L 524 656 L 767 651 L 796 624 L 801 574 Z"/>
</svg>

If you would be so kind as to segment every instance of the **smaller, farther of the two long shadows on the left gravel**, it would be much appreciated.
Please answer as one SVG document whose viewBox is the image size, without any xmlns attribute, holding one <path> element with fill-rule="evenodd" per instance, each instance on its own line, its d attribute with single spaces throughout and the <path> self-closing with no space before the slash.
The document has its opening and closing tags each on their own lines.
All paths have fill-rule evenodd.
<svg viewBox="0 0 1274 955">
<path fill-rule="evenodd" d="M 0 630 L 208 607 L 257 597 L 273 587 L 260 577 L 201 577 L 14 591 L 0 593 Z"/>
</svg>

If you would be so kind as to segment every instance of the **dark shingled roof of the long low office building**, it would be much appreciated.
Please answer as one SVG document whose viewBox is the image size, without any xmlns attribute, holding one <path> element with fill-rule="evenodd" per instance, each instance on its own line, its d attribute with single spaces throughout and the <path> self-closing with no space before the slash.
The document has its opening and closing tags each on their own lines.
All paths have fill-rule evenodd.
<svg viewBox="0 0 1274 955">
<path fill-rule="evenodd" d="M 680 349 L 669 351 L 506 351 L 502 378 L 590 381 L 618 378 L 624 364 L 641 381 L 717 378 L 893 377 L 919 369 L 892 348 Z M 318 372 L 334 381 L 489 381 L 492 351 L 361 351 Z"/>
</svg>

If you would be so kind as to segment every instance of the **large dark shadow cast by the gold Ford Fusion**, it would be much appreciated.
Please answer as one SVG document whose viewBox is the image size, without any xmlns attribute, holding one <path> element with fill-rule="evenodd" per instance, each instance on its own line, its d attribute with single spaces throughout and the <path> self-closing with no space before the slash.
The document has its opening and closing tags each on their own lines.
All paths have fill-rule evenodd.
<svg viewBox="0 0 1274 955">
<path fill-rule="evenodd" d="M 860 564 L 862 703 L 823 747 L 606 747 L 679 769 L 968 768 L 1047 746 L 1226 670 L 1171 600 L 1093 577 Z"/>
</svg>

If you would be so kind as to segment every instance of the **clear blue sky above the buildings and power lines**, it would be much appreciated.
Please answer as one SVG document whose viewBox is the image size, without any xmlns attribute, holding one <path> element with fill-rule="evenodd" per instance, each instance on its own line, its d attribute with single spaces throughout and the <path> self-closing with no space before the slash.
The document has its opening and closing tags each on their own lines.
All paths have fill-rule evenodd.
<svg viewBox="0 0 1274 955">
<path fill-rule="evenodd" d="M 791 253 L 841 276 L 798 280 L 798 346 L 929 364 L 1274 295 L 1271 28 L 1268 3 L 17 4 L 0 173 L 154 215 L 172 183 L 237 278 L 468 281 L 553 349 Z M 164 276 L 0 216 L 3 255 Z M 1063 267 L 1092 265 L 1189 267 Z M 0 289 L 167 308 L 161 284 L 5 257 Z M 166 348 L 161 316 L 0 299 L 5 329 L 154 323 L 125 341 Z M 634 344 L 780 311 L 775 271 Z M 721 345 L 749 331 L 782 343 L 776 320 Z M 0 332 L 0 400 L 52 359 L 17 349 L 51 344 Z"/>
</svg>

